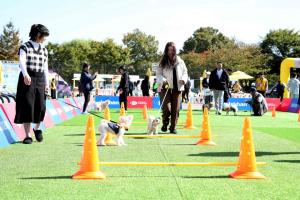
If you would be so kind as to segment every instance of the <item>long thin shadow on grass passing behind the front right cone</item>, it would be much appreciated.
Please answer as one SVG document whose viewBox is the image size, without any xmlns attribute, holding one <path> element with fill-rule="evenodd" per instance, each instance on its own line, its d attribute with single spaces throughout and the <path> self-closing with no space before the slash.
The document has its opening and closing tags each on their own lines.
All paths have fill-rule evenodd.
<svg viewBox="0 0 300 200">
<path fill-rule="evenodd" d="M 271 152 L 271 151 L 256 151 L 255 155 L 259 156 L 277 156 L 277 155 L 290 155 L 300 154 L 300 152 Z M 188 156 L 208 156 L 208 157 L 237 157 L 239 152 L 206 152 L 197 154 L 188 154 Z"/>
</svg>

